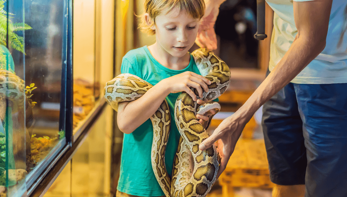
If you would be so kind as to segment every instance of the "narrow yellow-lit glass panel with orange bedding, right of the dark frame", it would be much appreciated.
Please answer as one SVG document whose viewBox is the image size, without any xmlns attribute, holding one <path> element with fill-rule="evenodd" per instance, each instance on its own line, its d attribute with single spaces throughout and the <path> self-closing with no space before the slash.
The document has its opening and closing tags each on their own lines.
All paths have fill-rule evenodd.
<svg viewBox="0 0 347 197">
<path fill-rule="evenodd" d="M 95 103 L 95 0 L 74 0 L 74 117 L 75 129 L 92 111 Z M 86 23 L 87 22 L 87 23 Z"/>
</svg>

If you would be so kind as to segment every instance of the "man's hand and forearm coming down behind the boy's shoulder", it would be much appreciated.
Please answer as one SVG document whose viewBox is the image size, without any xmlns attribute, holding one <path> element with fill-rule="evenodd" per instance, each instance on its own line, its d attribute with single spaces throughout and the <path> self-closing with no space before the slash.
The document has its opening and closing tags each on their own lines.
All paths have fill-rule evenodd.
<svg viewBox="0 0 347 197">
<path fill-rule="evenodd" d="M 217 36 L 214 32 L 214 24 L 219 14 L 219 6 L 225 0 L 206 0 L 205 15 L 200 20 L 200 27 L 196 36 L 195 43 L 200 48 L 208 48 L 209 50 L 217 49 Z"/>
</svg>

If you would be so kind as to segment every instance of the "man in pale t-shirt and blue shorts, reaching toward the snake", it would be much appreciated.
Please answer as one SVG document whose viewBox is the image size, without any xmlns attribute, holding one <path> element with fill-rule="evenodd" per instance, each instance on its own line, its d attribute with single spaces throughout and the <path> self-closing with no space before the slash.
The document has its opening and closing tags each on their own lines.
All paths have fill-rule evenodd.
<svg viewBox="0 0 347 197">
<path fill-rule="evenodd" d="M 212 27 L 221 3 L 212 1 L 196 40 L 209 49 L 217 48 Z M 244 126 L 264 104 L 273 196 L 347 196 L 347 1 L 266 2 L 274 11 L 271 72 L 199 148 L 218 140 L 219 176 Z"/>
</svg>

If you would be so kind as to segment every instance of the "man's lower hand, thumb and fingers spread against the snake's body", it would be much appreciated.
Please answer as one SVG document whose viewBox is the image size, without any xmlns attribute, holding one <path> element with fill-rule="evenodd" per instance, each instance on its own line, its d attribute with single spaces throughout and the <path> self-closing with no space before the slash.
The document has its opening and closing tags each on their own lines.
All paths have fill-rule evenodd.
<svg viewBox="0 0 347 197">
<path fill-rule="evenodd" d="M 219 170 L 217 173 L 217 178 L 227 167 L 227 163 L 231 154 L 234 152 L 236 142 L 239 139 L 242 130 L 244 129 L 246 123 L 252 118 L 245 116 L 245 113 L 239 111 L 235 112 L 228 118 L 224 119 L 220 125 L 214 130 L 213 134 L 205 139 L 199 146 L 200 150 L 205 150 L 206 148 L 212 146 L 217 140 L 217 152 L 221 157 Z"/>
</svg>

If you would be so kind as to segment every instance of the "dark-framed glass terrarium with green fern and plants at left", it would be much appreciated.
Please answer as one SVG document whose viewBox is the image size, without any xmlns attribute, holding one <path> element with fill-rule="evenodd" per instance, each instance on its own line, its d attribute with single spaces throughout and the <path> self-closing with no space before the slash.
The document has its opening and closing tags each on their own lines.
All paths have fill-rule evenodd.
<svg viewBox="0 0 347 197">
<path fill-rule="evenodd" d="M 0 0 L 0 196 L 21 196 L 66 143 L 66 1 Z"/>
</svg>

